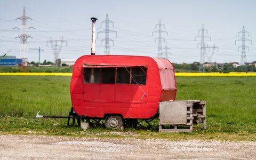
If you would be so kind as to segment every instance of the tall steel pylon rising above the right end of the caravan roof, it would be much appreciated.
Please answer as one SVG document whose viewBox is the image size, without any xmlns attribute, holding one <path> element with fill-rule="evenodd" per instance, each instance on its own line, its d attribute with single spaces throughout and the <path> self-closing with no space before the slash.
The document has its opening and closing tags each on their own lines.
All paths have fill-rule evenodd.
<svg viewBox="0 0 256 160">
<path fill-rule="evenodd" d="M 168 32 L 167 31 L 163 31 L 162 30 L 162 26 L 165 28 L 165 26 L 161 23 L 161 19 L 159 19 L 159 23 L 156 25 L 156 28 L 158 26 L 158 30 L 157 31 L 153 31 L 152 32 L 152 36 L 154 36 L 154 33 L 158 33 L 158 52 L 157 52 L 157 57 L 158 58 L 162 58 L 163 57 L 163 46 L 162 46 L 162 40 L 164 40 L 165 42 L 165 39 L 162 37 L 162 33 L 166 33 L 166 35 L 168 36 Z M 156 42 L 156 39 L 155 39 L 155 42 Z"/>
</svg>

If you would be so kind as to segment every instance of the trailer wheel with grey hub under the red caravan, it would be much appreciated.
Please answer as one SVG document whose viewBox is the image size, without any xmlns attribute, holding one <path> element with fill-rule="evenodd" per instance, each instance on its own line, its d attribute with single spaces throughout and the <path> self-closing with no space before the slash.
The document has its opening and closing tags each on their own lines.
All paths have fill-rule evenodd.
<svg viewBox="0 0 256 160">
<path fill-rule="evenodd" d="M 123 118 L 118 115 L 109 115 L 105 119 L 105 126 L 107 129 L 121 129 L 124 125 Z"/>
</svg>

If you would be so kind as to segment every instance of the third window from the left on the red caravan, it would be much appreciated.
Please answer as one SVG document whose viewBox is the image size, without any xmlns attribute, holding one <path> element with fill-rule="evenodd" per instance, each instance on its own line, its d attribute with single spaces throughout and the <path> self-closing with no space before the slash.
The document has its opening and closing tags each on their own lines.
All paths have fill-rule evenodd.
<svg viewBox="0 0 256 160">
<path fill-rule="evenodd" d="M 130 68 L 116 69 L 116 83 L 130 84 Z"/>
</svg>

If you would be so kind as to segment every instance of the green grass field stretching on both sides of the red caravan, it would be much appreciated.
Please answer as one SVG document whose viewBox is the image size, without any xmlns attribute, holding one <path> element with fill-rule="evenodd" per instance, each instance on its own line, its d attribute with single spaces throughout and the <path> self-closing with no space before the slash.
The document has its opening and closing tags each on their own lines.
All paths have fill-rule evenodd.
<svg viewBox="0 0 256 160">
<path fill-rule="evenodd" d="M 42 115 L 68 115 L 71 107 L 70 78 L 0 76 L 0 133 L 108 133 L 101 126 L 82 131 L 79 127 L 67 127 L 66 119 L 34 118 L 37 111 L 41 111 Z M 198 135 L 201 135 L 202 139 L 256 140 L 256 77 L 176 77 L 176 81 L 177 100 L 206 101 L 207 130 L 189 134 L 127 130 L 140 134 L 142 138 L 200 138 Z M 158 123 L 154 125 L 157 128 Z"/>
</svg>

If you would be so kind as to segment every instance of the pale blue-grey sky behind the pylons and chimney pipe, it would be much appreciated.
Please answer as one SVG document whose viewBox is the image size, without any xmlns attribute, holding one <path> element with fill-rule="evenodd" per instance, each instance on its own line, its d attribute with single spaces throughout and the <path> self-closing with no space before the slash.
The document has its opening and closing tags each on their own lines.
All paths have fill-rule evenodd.
<svg viewBox="0 0 256 160">
<path fill-rule="evenodd" d="M 165 38 L 163 47 L 167 45 L 170 50 L 169 60 L 174 63 L 192 63 L 200 61 L 200 43 L 201 36 L 198 29 L 208 30 L 205 36 L 205 43 L 208 46 L 218 47 L 212 52 L 212 49 L 206 49 L 207 55 L 205 61 L 213 53 L 212 62 L 240 62 L 241 50 L 238 46 L 242 45 L 239 41 L 235 45 L 238 37 L 238 31 L 245 27 L 250 32 L 246 38 L 252 40 L 246 41 L 247 62 L 256 61 L 256 1 L 254 0 L 177 0 L 177 1 L 151 1 L 151 0 L 130 0 L 130 1 L 66 1 L 66 0 L 1 0 L 0 1 L 0 55 L 12 49 L 8 55 L 15 55 L 20 58 L 20 39 L 15 38 L 21 34 L 21 30 L 13 29 L 21 26 L 21 20 L 15 20 L 21 17 L 23 7 L 26 9 L 26 15 L 33 20 L 27 20 L 26 33 L 33 37 L 28 38 L 28 61 L 38 61 L 38 49 L 40 46 L 41 62 L 43 60 L 53 61 L 53 51 L 50 43 L 47 41 L 63 40 L 59 57 L 61 59 L 77 59 L 85 54 L 91 54 L 92 23 L 90 18 L 97 18 L 96 31 L 104 30 L 104 23 L 101 21 L 109 19 L 114 22 L 115 34 L 110 34 L 114 41 L 114 46 L 110 43 L 110 53 L 113 55 L 145 55 L 157 57 L 158 43 L 155 38 L 158 34 L 152 35 L 159 19 L 165 25 L 162 30 L 167 31 L 168 35 L 162 33 Z M 99 34 L 96 39 L 96 54 L 104 54 L 105 43 L 101 40 L 105 34 Z M 208 57 L 207 57 L 208 56 Z"/>
</svg>

